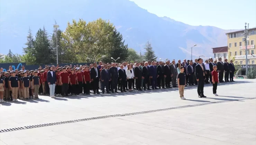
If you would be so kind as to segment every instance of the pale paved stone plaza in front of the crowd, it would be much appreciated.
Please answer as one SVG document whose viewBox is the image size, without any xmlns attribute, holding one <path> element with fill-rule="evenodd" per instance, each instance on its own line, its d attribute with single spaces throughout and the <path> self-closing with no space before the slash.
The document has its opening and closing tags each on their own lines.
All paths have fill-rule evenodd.
<svg viewBox="0 0 256 145">
<path fill-rule="evenodd" d="M 196 86 L 185 87 L 187 100 L 172 88 L 1 103 L 0 145 L 255 145 L 256 81 L 204 92 L 198 98 Z M 39 126 L 10 130 L 32 125 Z"/>
</svg>

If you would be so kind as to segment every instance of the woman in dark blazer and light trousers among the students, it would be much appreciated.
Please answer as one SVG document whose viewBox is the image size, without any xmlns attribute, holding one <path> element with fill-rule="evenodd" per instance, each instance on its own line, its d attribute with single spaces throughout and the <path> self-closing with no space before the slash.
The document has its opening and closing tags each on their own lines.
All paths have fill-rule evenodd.
<svg viewBox="0 0 256 145">
<path fill-rule="evenodd" d="M 49 71 L 47 72 L 47 82 L 50 88 L 51 98 L 55 98 L 54 92 L 55 92 L 56 81 L 57 79 L 56 79 L 55 71 L 53 71 L 53 67 L 51 66 L 49 68 Z"/>
</svg>

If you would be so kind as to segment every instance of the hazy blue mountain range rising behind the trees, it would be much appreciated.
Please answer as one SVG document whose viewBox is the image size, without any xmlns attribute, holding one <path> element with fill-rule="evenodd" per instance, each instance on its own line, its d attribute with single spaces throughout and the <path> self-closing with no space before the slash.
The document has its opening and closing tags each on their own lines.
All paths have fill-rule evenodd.
<svg viewBox="0 0 256 145">
<path fill-rule="evenodd" d="M 0 53 L 8 50 L 22 54 L 27 31 L 33 34 L 45 26 L 52 33 L 56 20 L 63 31 L 72 19 L 93 21 L 110 20 L 121 32 L 129 48 L 143 53 L 149 40 L 158 58 L 193 59 L 199 56 L 213 57 L 213 47 L 227 46 L 223 30 L 213 26 L 190 26 L 168 17 L 140 8 L 129 0 L 13 0 L 0 3 Z"/>
</svg>

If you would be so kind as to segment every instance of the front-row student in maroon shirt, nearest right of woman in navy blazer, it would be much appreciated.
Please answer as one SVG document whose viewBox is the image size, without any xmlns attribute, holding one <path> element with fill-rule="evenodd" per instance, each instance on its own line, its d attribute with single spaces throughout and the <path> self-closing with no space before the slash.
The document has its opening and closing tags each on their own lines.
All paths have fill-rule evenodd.
<svg viewBox="0 0 256 145">
<path fill-rule="evenodd" d="M 62 85 L 62 96 L 66 95 L 68 96 L 67 94 L 67 89 L 68 89 L 68 84 L 69 84 L 69 76 L 68 76 L 68 72 L 66 72 L 66 68 L 63 67 L 62 68 L 62 71 L 60 73 L 60 82 L 61 82 L 61 85 Z"/>
</svg>

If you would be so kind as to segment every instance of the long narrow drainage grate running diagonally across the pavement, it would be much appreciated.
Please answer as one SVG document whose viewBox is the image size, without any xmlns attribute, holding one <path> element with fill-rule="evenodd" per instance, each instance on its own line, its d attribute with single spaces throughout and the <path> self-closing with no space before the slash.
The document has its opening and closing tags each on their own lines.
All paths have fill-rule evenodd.
<svg viewBox="0 0 256 145">
<path fill-rule="evenodd" d="M 243 99 L 230 99 L 230 100 L 223 100 L 223 101 L 217 101 L 217 102 L 209 102 L 209 103 L 202 103 L 202 104 L 185 105 L 185 106 L 178 106 L 178 107 L 171 107 L 171 108 L 164 108 L 164 109 L 157 109 L 157 110 L 149 110 L 149 111 L 143 111 L 143 112 L 107 115 L 107 116 L 100 116 L 100 117 L 69 120 L 69 121 L 63 121 L 63 122 L 55 122 L 55 123 L 31 125 L 31 126 L 24 126 L 24 127 L 16 127 L 16 128 L 10 128 L 10 129 L 2 129 L 2 130 L 0 130 L 0 133 L 18 131 L 18 130 L 22 130 L 22 129 L 30 129 L 30 128 L 37 128 L 37 127 L 59 125 L 59 124 L 82 122 L 82 121 L 87 121 L 87 120 L 95 120 L 95 119 L 103 119 L 103 118 L 110 118 L 110 117 L 130 116 L 130 115 L 137 115 L 137 114 L 153 113 L 153 112 L 166 111 L 166 110 L 172 110 L 172 109 L 188 108 L 188 107 L 203 106 L 203 105 L 216 104 L 216 103 L 225 103 L 225 102 L 231 102 L 231 101 L 240 101 L 240 100 L 247 100 L 247 99 L 256 99 L 256 97 L 254 97 L 254 98 L 243 98 Z"/>
</svg>

